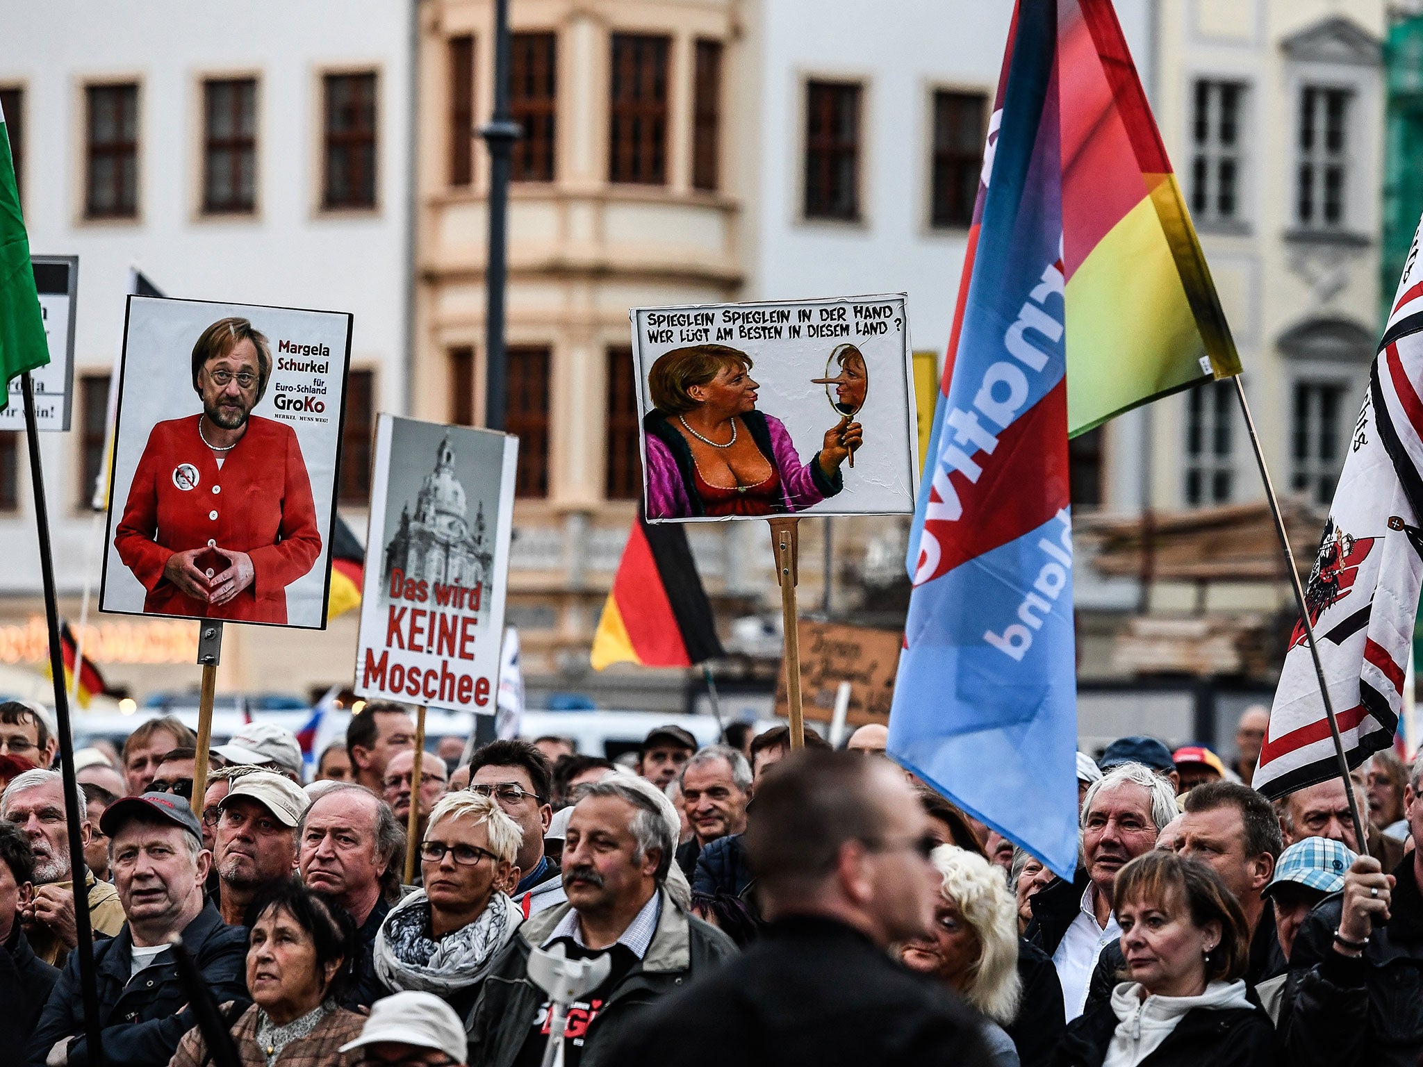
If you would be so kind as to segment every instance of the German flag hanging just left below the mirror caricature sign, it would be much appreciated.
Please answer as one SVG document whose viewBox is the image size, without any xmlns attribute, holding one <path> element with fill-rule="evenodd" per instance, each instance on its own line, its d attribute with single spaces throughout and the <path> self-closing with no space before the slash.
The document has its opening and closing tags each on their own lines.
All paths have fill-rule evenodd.
<svg viewBox="0 0 1423 1067">
<path fill-rule="evenodd" d="M 726 656 L 680 525 L 649 525 L 639 508 L 589 657 L 593 670 L 630 660 L 690 667 Z"/>
</svg>

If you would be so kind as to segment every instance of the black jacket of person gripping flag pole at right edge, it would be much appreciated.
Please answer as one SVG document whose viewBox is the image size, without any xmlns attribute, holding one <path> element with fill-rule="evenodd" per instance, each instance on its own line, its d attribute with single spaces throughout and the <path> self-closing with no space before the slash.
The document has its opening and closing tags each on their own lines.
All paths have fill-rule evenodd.
<svg viewBox="0 0 1423 1067">
<path fill-rule="evenodd" d="M 1423 1057 L 1423 892 L 1413 854 L 1395 868 L 1389 920 L 1360 959 L 1333 950 L 1343 895 L 1326 896 L 1295 935 L 1285 1030 L 1292 1067 L 1417 1067 Z"/>
</svg>

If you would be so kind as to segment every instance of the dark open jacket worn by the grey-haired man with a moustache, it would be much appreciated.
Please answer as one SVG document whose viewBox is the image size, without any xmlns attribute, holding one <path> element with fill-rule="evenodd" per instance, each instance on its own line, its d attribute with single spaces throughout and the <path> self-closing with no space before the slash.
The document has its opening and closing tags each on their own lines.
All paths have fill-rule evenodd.
<svg viewBox="0 0 1423 1067">
<path fill-rule="evenodd" d="M 721 930 L 680 911 L 666 889 L 659 892 L 662 915 L 652 943 L 642 960 L 606 994 L 602 1010 L 589 1023 L 581 1067 L 622 1067 L 623 1061 L 610 1049 L 622 1034 L 640 1029 L 647 1004 L 736 955 L 736 946 Z M 465 1027 L 468 1063 L 512 1067 L 518 1060 L 546 999 L 544 990 L 529 982 L 529 949 L 558 928 L 569 908 L 562 903 L 532 916 L 494 957 Z"/>
</svg>

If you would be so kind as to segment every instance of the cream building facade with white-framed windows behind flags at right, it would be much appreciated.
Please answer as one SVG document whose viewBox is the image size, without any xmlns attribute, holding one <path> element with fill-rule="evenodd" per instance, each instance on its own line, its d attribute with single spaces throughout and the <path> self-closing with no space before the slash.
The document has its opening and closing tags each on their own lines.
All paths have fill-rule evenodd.
<svg viewBox="0 0 1423 1067">
<path fill-rule="evenodd" d="M 1155 11 L 1153 107 L 1239 349 L 1265 458 L 1281 494 L 1321 511 L 1382 329 L 1386 17 L 1383 0 L 1161 0 Z M 1137 444 L 1143 424 L 1147 448 Z M 1104 455 L 1106 512 L 1136 512 L 1144 492 L 1165 512 L 1264 501 L 1228 383 L 1118 420 Z M 1294 549 L 1308 561 L 1315 546 Z M 1116 582 L 1089 596 L 1131 610 L 1138 590 Z M 1153 613 L 1288 605 L 1282 583 L 1160 580 L 1150 590 Z"/>
</svg>

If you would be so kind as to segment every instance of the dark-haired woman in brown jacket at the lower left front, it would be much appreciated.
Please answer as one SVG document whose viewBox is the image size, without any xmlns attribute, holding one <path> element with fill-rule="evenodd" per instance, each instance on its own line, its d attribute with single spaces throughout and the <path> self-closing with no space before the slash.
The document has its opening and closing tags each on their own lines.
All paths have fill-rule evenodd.
<svg viewBox="0 0 1423 1067">
<path fill-rule="evenodd" d="M 351 982 L 356 920 L 324 893 L 296 882 L 269 886 L 246 915 L 252 1006 L 222 1007 L 243 1067 L 353 1067 L 364 1017 L 337 1006 Z M 212 1054 L 194 1027 L 169 1067 L 208 1067 Z"/>
</svg>

